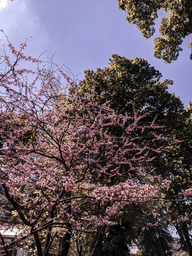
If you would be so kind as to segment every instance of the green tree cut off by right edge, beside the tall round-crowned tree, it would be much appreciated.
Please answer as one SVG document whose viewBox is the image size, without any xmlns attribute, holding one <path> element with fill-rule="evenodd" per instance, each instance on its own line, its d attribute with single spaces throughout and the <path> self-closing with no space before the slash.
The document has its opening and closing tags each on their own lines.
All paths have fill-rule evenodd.
<svg viewBox="0 0 192 256">
<path fill-rule="evenodd" d="M 179 138 L 181 143 L 170 145 L 165 149 L 167 166 L 169 166 L 170 175 L 172 175 L 172 186 L 166 192 L 170 196 L 176 194 L 182 189 L 189 189 L 192 186 L 192 104 L 189 102 L 189 107 L 182 114 L 183 125 L 180 128 Z M 192 255 L 192 207 L 190 203 L 191 197 L 188 197 L 189 201 L 169 202 L 166 205 L 167 213 L 170 215 L 169 222 L 175 225 L 177 233 L 180 236 L 182 248 L 185 251 L 189 251 L 189 255 Z M 173 218 L 173 215 L 181 216 L 182 222 Z"/>
</svg>

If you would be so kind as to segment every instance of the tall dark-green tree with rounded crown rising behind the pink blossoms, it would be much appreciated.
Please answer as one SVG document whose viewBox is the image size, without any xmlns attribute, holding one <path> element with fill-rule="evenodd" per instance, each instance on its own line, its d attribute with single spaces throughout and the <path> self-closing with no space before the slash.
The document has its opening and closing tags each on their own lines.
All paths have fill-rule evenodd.
<svg viewBox="0 0 192 256">
<path fill-rule="evenodd" d="M 150 67 L 150 64 L 144 59 L 134 58 L 133 60 L 128 60 L 123 56 L 113 54 L 109 67 L 98 68 L 96 72 L 93 70 L 85 71 L 84 79 L 80 84 L 80 92 L 82 94 L 90 93 L 94 88 L 96 100 L 100 104 L 107 100 L 108 105 L 116 110 L 117 113 L 131 116 L 133 115 L 133 107 L 142 114 L 150 112 L 150 116 L 146 116 L 143 120 L 144 125 L 151 122 L 154 117 L 156 118 L 156 122 L 162 125 L 160 134 L 163 134 L 165 138 L 165 140 L 160 140 L 157 143 L 157 147 L 166 148 L 172 142 L 171 138 L 175 131 L 183 127 L 183 121 L 180 121 L 182 119 L 183 104 L 179 98 L 167 91 L 168 84 L 172 84 L 172 81 L 160 81 L 160 78 L 161 73 L 155 70 L 154 67 Z M 154 142 L 150 140 L 150 134 L 146 132 L 143 136 L 145 140 L 148 139 L 148 143 L 153 143 L 154 146 Z M 162 154 L 158 154 L 158 157 L 156 153 L 154 154 L 156 159 L 153 161 L 153 165 L 156 168 L 157 175 L 163 174 L 163 177 L 167 178 L 170 169 L 165 157 L 162 157 L 165 151 Z M 131 174 L 130 171 L 126 171 L 125 175 L 128 175 L 128 172 L 129 175 Z M 131 175 L 139 175 L 139 173 Z M 146 182 L 144 176 L 141 177 L 141 182 Z M 143 211 L 143 206 L 148 207 L 149 211 Z M 157 212 L 160 207 L 157 204 Z M 157 227 L 154 227 L 149 231 L 142 231 L 142 227 L 147 225 L 147 221 L 151 221 L 152 217 L 146 218 L 149 215 L 151 216 L 149 204 L 138 205 L 134 209 L 133 207 L 127 207 L 125 213 L 119 217 L 121 225 L 117 224 L 112 227 L 113 232 L 108 228 L 102 232 L 103 255 L 127 255 L 127 244 L 131 244 L 131 241 L 134 241 L 135 238 L 140 239 L 140 247 L 143 245 L 143 247 L 146 246 L 147 248 L 156 239 L 156 247 L 154 245 L 151 246 L 154 252 L 158 252 L 159 248 L 162 247 L 163 240 L 166 250 L 169 251 L 172 237 L 168 230 L 167 220 L 159 217 L 159 221 L 162 224 L 158 227 L 158 230 Z M 142 221 L 143 218 L 145 221 Z M 116 222 L 118 223 L 118 221 L 117 218 Z M 137 232 L 137 230 L 140 230 L 140 232 Z M 161 241 L 159 233 L 163 236 Z"/>
</svg>

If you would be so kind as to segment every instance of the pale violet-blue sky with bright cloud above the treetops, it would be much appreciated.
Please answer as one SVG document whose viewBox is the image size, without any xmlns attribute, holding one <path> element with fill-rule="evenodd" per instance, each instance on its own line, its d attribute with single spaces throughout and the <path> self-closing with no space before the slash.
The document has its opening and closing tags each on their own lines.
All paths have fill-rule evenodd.
<svg viewBox="0 0 192 256">
<path fill-rule="evenodd" d="M 34 57 L 45 50 L 43 59 L 56 52 L 54 61 L 64 63 L 74 75 L 81 73 L 79 79 L 86 69 L 107 67 L 113 53 L 145 58 L 163 79 L 174 80 L 169 91 L 187 107 L 192 100 L 192 61 L 187 48 L 192 36 L 184 39 L 177 61 L 166 65 L 152 56 L 153 38 L 144 39 L 125 17 L 116 0 L 0 0 L 0 29 L 16 45 L 25 35 L 32 35 L 27 52 Z"/>
</svg>

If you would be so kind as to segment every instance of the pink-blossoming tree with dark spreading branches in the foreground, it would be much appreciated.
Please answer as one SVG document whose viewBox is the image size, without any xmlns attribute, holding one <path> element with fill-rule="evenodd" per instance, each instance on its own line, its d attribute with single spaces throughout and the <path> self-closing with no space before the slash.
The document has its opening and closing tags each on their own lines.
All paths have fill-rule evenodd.
<svg viewBox="0 0 192 256">
<path fill-rule="evenodd" d="M 96 102 L 95 88 L 80 94 L 56 64 L 44 76 L 46 64 L 40 68 L 41 61 L 24 54 L 26 41 L 17 50 L 7 40 L 12 55 L 2 49 L 0 72 L 0 230 L 18 233 L 10 243 L 1 236 L 1 254 L 22 243 L 47 256 L 59 235 L 96 232 L 116 224 L 127 206 L 165 200 L 160 191 L 170 181 L 151 166 L 151 155 L 160 152 L 155 141 L 163 140 L 160 127 L 153 118 L 142 125 L 151 113 L 116 113 L 109 102 Z M 20 67 L 25 61 L 38 70 Z M 67 84 L 59 93 L 52 86 L 56 74 Z M 154 146 L 143 140 L 146 132 Z"/>
</svg>

